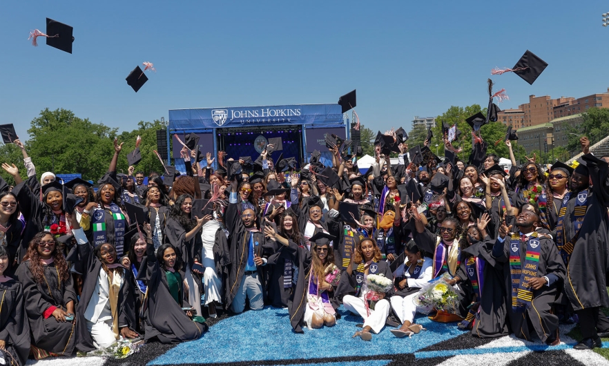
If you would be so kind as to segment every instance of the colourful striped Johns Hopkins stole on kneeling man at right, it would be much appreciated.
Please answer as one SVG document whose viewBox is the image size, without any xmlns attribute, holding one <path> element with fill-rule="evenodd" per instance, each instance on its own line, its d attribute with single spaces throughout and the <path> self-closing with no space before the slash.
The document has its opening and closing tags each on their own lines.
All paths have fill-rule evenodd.
<svg viewBox="0 0 609 366">
<path fill-rule="evenodd" d="M 510 274 L 512 279 L 512 310 L 516 313 L 521 313 L 528 309 L 533 300 L 533 292 L 528 287 L 525 287 L 532 278 L 537 277 L 537 269 L 539 268 L 539 251 L 541 251 L 541 243 L 537 232 L 532 233 L 526 241 L 526 256 L 524 266 L 521 263 L 520 235 L 512 233 L 510 240 Z"/>
</svg>

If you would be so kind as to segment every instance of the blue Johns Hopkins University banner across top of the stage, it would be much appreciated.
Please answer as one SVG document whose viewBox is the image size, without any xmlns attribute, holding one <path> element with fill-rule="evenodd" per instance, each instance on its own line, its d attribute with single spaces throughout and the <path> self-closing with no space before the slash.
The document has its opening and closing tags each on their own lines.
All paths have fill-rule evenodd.
<svg viewBox="0 0 609 366">
<path fill-rule="evenodd" d="M 338 104 L 298 104 L 169 110 L 171 131 L 193 128 L 317 125 L 342 126 Z"/>
</svg>

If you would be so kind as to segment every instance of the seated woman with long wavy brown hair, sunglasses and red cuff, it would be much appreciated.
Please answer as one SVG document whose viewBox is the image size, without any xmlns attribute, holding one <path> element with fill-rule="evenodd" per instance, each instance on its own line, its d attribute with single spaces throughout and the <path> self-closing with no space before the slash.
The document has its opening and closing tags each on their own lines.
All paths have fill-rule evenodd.
<svg viewBox="0 0 609 366">
<path fill-rule="evenodd" d="M 17 279 L 23 284 L 35 358 L 95 349 L 82 314 L 75 311 L 77 297 L 66 258 L 50 233 L 32 239 Z M 70 315 L 74 319 L 66 320 Z"/>
</svg>

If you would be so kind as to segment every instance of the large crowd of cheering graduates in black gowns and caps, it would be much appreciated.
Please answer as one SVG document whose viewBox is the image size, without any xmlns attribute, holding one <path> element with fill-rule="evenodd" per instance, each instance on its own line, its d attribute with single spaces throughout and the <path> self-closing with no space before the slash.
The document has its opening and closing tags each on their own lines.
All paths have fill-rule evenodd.
<svg viewBox="0 0 609 366">
<path fill-rule="evenodd" d="M 16 184 L 0 181 L 1 358 L 24 365 L 121 339 L 195 340 L 204 317 L 268 305 L 289 309 L 296 333 L 334 326 L 342 305 L 363 318 L 345 336 L 362 340 L 385 327 L 416 336 L 420 312 L 474 337 L 550 346 L 559 324 L 579 322 L 574 348 L 601 347 L 609 158 L 582 137 L 573 165 L 519 165 L 508 133 L 506 171 L 481 139 L 463 162 L 446 136 L 443 159 L 406 138 L 379 133 L 369 168 L 338 137 L 327 137 L 331 162 L 315 151 L 300 166 L 273 160 L 272 144 L 255 160 L 218 152 L 215 162 L 186 138 L 185 174 L 164 166 L 147 184 L 139 151 L 117 173 L 117 141 L 93 184 L 37 175 L 15 140 L 28 179 L 2 165 Z M 385 291 L 371 286 L 381 276 L 392 281 Z M 456 293 L 451 311 L 417 305 L 438 278 Z"/>
</svg>

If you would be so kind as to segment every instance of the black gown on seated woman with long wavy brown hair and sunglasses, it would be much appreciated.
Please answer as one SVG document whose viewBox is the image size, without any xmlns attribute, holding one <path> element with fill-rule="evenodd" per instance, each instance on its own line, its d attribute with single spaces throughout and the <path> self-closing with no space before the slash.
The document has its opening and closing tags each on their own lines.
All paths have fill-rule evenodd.
<svg viewBox="0 0 609 366">
<path fill-rule="evenodd" d="M 32 345 L 55 354 L 69 356 L 75 349 L 93 351 L 93 340 L 89 335 L 86 322 L 76 306 L 77 297 L 72 276 L 57 283 L 55 262 L 43 264 L 46 281 L 39 284 L 30 271 L 30 260 L 26 260 L 17 268 L 17 279 L 23 284 L 23 294 L 26 298 L 26 312 L 32 330 Z M 49 291 L 52 295 L 49 294 Z M 58 322 L 54 316 L 44 318 L 44 311 L 49 307 L 61 307 L 66 310 L 66 303 L 75 304 L 74 320 Z"/>
</svg>

